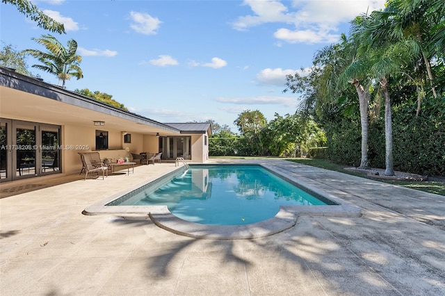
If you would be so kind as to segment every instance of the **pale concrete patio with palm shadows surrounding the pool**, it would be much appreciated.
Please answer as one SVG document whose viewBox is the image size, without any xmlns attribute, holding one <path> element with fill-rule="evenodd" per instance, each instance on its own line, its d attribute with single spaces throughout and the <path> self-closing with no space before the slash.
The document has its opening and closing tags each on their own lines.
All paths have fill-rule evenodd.
<svg viewBox="0 0 445 296">
<path fill-rule="evenodd" d="M 273 236 L 196 239 L 147 215 L 82 214 L 175 170 L 174 163 L 105 180 L 69 176 L 0 199 L 0 294 L 445 295 L 444 196 L 288 161 L 257 162 L 359 206 L 362 216 L 301 215 Z"/>
</svg>

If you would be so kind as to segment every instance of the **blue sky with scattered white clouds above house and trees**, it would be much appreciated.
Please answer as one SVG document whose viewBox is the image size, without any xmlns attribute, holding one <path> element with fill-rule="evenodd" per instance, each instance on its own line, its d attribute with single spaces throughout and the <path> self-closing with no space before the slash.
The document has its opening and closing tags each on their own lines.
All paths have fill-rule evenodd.
<svg viewBox="0 0 445 296">
<path fill-rule="evenodd" d="M 268 121 L 295 113 L 301 99 L 283 92 L 286 75 L 310 67 L 316 51 L 348 34 L 355 16 L 382 9 L 385 0 L 32 2 L 66 34 L 0 3 L 1 47 L 46 51 L 31 39 L 46 34 L 65 47 L 76 40 L 84 77 L 66 81 L 67 90 L 106 92 L 158 122 L 214 120 L 236 132 L 245 110 Z M 38 60 L 26 62 L 58 84 L 31 67 Z"/>
</svg>

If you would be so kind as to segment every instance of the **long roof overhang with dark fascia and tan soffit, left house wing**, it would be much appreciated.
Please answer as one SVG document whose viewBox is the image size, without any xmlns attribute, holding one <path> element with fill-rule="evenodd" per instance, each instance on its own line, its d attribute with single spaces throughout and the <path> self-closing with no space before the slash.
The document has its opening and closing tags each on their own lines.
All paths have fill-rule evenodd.
<svg viewBox="0 0 445 296">
<path fill-rule="evenodd" d="M 103 104 L 5 67 L 0 67 L 0 116 L 79 126 L 94 126 L 94 121 L 101 121 L 105 122 L 104 129 L 127 133 L 181 133 L 179 129 L 167 124 Z"/>
</svg>

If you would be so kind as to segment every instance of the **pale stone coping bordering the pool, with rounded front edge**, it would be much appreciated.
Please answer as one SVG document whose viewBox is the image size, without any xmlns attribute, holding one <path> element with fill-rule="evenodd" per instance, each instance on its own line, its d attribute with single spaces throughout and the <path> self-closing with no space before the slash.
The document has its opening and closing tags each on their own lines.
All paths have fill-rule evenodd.
<svg viewBox="0 0 445 296">
<path fill-rule="evenodd" d="M 211 164 L 218 165 L 218 164 Z M 226 164 L 227 165 L 227 164 Z M 147 179 L 143 183 L 136 184 L 122 190 L 111 197 L 103 199 L 100 202 L 92 204 L 83 210 L 83 215 L 136 215 L 142 216 L 142 219 L 146 219 L 147 215 L 156 226 L 170 231 L 172 233 L 179 234 L 181 236 L 188 236 L 191 238 L 207 238 L 207 239 L 220 239 L 220 240 L 234 240 L 234 239 L 252 239 L 261 238 L 265 236 L 271 236 L 275 233 L 280 233 L 286 229 L 289 229 L 296 225 L 298 217 L 300 215 L 310 216 L 327 216 L 327 217 L 360 217 L 362 211 L 358 206 L 350 204 L 349 202 L 335 197 L 329 192 L 325 192 L 319 188 L 305 183 L 304 181 L 292 176 L 291 174 L 284 174 L 284 172 L 277 170 L 275 167 L 252 163 L 252 165 L 259 165 L 266 170 L 279 175 L 286 181 L 298 186 L 303 187 L 309 191 L 314 192 L 316 195 L 330 199 L 337 205 L 323 205 L 323 206 L 280 206 L 280 211 L 268 220 L 264 220 L 252 224 L 243 225 L 207 225 L 198 224 L 194 222 L 188 222 L 176 217 L 168 210 L 167 206 L 106 206 L 113 200 L 125 195 L 140 186 L 144 186 L 147 183 L 156 182 L 156 180 L 162 179 L 170 174 L 179 173 L 185 170 L 185 167 L 179 167 L 178 169 L 163 174 L 161 176 Z M 298 180 L 297 180 L 298 179 Z M 134 217 L 133 217 L 134 218 Z"/>
</svg>

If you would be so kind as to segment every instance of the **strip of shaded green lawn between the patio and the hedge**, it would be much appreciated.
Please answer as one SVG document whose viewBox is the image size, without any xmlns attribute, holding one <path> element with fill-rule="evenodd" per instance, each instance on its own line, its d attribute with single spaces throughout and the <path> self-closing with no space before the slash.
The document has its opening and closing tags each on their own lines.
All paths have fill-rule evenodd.
<svg viewBox="0 0 445 296">
<path fill-rule="evenodd" d="M 335 172 L 342 172 L 344 174 L 352 174 L 354 176 L 359 176 L 365 179 L 373 179 L 369 178 L 369 176 L 366 176 L 365 174 L 362 174 L 360 172 L 350 172 L 348 170 L 345 170 L 344 165 L 338 165 L 336 163 L 330 163 L 329 161 L 326 161 L 325 159 L 315 159 L 315 158 L 281 158 L 281 157 L 238 157 L 238 156 L 212 156 L 211 158 L 241 158 L 241 159 L 282 159 L 286 161 L 293 161 L 294 163 L 302 163 L 303 165 L 312 165 L 313 167 L 321 167 L 326 170 L 332 170 Z M 382 180 L 382 179 L 373 179 L 375 181 L 385 182 L 394 184 L 397 186 L 403 186 L 407 188 L 412 188 L 416 190 L 421 190 L 425 192 L 435 193 L 437 195 L 444 195 L 445 196 L 445 183 L 442 182 L 435 182 L 435 181 L 390 181 L 390 180 Z"/>
</svg>

